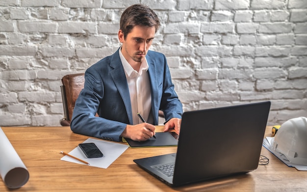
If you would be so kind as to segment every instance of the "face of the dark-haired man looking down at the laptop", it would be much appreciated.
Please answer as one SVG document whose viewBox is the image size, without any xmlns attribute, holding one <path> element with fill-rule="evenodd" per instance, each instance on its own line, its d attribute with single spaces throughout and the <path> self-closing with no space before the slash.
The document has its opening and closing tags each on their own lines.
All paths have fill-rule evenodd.
<svg viewBox="0 0 307 192">
<path fill-rule="evenodd" d="M 122 53 L 132 67 L 139 66 L 144 60 L 152 45 L 154 33 L 154 27 L 135 26 L 124 39 L 123 32 L 119 30 L 118 37 L 123 43 Z"/>
</svg>

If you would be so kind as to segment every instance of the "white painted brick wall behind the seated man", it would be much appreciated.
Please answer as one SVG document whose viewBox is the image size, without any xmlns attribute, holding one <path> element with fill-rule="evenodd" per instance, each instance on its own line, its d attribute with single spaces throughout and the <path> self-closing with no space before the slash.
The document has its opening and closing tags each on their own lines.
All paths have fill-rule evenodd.
<svg viewBox="0 0 307 192">
<path fill-rule="evenodd" d="M 269 125 L 307 116 L 307 0 L 1 0 L 0 126 L 59 126 L 61 78 L 116 51 L 139 2 L 184 110 L 270 100 Z"/>
</svg>

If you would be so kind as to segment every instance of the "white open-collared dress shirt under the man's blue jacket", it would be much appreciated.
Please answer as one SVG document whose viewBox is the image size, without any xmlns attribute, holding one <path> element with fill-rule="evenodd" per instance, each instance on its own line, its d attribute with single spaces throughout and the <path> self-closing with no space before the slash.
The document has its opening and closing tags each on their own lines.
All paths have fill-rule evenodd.
<svg viewBox="0 0 307 192">
<path fill-rule="evenodd" d="M 135 71 L 128 63 L 120 49 L 121 58 L 129 87 L 133 125 L 142 123 L 137 113 L 140 113 L 146 122 L 151 123 L 150 112 L 152 108 L 151 84 L 148 76 L 148 63 L 146 58 L 142 61 L 139 71 Z"/>
</svg>

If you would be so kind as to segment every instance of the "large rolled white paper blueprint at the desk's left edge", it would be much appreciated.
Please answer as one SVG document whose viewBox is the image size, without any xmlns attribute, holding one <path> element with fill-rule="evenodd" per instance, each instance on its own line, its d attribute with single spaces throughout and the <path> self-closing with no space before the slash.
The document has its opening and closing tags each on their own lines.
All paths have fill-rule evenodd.
<svg viewBox="0 0 307 192">
<path fill-rule="evenodd" d="M 0 175 L 8 188 L 17 189 L 29 180 L 29 172 L 0 127 Z"/>
</svg>

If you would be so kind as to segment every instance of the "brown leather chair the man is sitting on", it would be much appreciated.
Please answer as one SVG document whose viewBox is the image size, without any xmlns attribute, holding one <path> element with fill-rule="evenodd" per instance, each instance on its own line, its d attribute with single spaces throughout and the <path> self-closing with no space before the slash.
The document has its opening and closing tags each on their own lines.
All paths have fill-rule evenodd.
<svg viewBox="0 0 307 192">
<path fill-rule="evenodd" d="M 61 93 L 64 109 L 64 118 L 60 120 L 62 126 L 70 126 L 76 100 L 84 87 L 84 73 L 65 75 L 62 78 Z M 96 114 L 98 116 L 98 114 Z M 164 118 L 163 111 L 159 116 Z"/>
</svg>

